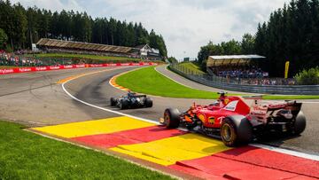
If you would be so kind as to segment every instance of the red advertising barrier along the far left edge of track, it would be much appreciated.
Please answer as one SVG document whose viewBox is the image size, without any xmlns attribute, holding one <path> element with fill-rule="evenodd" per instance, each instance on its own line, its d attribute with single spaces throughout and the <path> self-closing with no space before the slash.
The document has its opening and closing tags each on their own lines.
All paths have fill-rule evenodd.
<svg viewBox="0 0 319 180">
<path fill-rule="evenodd" d="M 0 69 L 0 74 L 16 74 L 16 73 L 29 73 L 36 71 L 51 71 L 61 69 L 74 69 L 84 67 L 129 67 L 129 66 L 152 66 L 156 63 L 113 63 L 113 64 L 82 64 L 82 65 L 63 65 L 63 66 L 51 66 L 51 67 L 17 67 L 11 69 Z"/>
</svg>

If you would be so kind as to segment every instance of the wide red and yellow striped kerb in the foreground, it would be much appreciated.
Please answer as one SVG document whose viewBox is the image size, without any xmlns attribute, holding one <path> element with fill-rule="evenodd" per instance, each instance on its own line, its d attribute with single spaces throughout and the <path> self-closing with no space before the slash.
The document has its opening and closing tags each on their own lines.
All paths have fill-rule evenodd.
<svg viewBox="0 0 319 180">
<path fill-rule="evenodd" d="M 315 179 L 319 161 L 253 146 L 230 148 L 222 141 L 179 129 L 166 129 L 126 116 L 73 122 L 37 132 L 89 147 L 122 153 L 201 178 Z M 267 178 L 266 178 L 267 177 Z"/>
</svg>

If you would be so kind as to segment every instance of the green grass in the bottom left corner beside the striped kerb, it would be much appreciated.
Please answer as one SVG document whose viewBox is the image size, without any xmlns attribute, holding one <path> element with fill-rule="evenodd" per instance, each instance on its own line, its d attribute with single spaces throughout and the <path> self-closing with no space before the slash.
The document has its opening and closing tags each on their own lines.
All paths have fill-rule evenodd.
<svg viewBox="0 0 319 180">
<path fill-rule="evenodd" d="M 0 121 L 0 179 L 172 179 Z"/>
</svg>

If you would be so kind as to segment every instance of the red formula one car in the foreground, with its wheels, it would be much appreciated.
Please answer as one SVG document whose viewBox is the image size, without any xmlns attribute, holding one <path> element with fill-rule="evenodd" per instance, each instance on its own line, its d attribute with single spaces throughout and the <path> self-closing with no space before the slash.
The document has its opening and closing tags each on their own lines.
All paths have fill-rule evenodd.
<svg viewBox="0 0 319 180">
<path fill-rule="evenodd" d="M 246 145 L 268 131 L 299 135 L 306 128 L 306 117 L 296 101 L 262 102 L 254 100 L 248 106 L 244 99 L 219 93 L 209 106 L 194 105 L 185 113 L 168 108 L 160 122 L 168 129 L 183 125 L 207 136 L 220 135 L 228 146 Z"/>
</svg>

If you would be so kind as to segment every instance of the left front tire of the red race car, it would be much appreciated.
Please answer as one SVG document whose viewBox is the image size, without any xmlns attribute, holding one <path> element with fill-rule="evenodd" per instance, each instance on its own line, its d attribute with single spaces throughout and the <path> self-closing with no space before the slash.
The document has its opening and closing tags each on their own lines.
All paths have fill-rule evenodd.
<svg viewBox="0 0 319 180">
<path fill-rule="evenodd" d="M 179 127 L 181 113 L 178 109 L 168 108 L 164 112 L 164 125 L 167 129 L 175 129 Z"/>
</svg>

